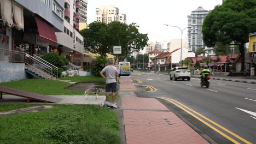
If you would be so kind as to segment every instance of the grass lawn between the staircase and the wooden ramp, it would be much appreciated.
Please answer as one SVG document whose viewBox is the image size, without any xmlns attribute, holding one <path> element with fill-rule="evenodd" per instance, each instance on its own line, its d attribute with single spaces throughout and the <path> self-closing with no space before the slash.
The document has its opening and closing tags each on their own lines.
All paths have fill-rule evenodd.
<svg viewBox="0 0 256 144">
<path fill-rule="evenodd" d="M 48 79 L 26 79 L 20 81 L 11 81 L 0 83 L 1 86 L 21 89 L 28 92 L 34 92 L 45 95 L 83 95 L 82 91 L 72 91 L 67 88 L 70 84 L 67 82 L 54 81 Z"/>
</svg>

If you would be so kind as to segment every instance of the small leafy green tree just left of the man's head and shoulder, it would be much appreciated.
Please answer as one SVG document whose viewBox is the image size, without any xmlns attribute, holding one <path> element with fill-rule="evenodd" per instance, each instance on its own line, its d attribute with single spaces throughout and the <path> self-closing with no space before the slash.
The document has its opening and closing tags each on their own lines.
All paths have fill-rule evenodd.
<svg viewBox="0 0 256 144">
<path fill-rule="evenodd" d="M 106 57 L 101 57 L 101 56 L 97 56 L 96 59 L 94 59 L 92 62 L 91 62 L 91 65 L 92 65 L 92 74 L 94 76 L 98 76 L 100 77 L 100 72 L 101 70 L 107 65 L 107 58 Z"/>
</svg>

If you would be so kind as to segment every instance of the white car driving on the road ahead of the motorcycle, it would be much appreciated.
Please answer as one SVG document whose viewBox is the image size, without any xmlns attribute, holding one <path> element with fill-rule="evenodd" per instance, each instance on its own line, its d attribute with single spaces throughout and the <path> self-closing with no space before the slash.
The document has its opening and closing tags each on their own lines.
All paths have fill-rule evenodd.
<svg viewBox="0 0 256 144">
<path fill-rule="evenodd" d="M 188 81 L 190 81 L 190 76 L 190 69 L 188 69 L 187 67 L 175 67 L 172 68 L 170 72 L 170 80 L 187 79 Z"/>
</svg>

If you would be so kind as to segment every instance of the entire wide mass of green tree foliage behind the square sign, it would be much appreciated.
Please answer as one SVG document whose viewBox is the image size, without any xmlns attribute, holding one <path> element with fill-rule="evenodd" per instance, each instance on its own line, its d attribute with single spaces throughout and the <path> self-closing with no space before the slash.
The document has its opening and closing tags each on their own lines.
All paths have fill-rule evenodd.
<svg viewBox="0 0 256 144">
<path fill-rule="evenodd" d="M 143 50 L 147 45 L 147 34 L 139 33 L 137 27 L 136 23 L 126 25 L 118 21 L 108 24 L 92 22 L 88 29 L 79 33 L 84 37 L 84 47 L 103 57 L 106 57 L 107 53 L 113 54 L 113 46 L 121 46 L 122 53 L 118 58 L 119 61 L 124 61 L 133 51 Z"/>
</svg>

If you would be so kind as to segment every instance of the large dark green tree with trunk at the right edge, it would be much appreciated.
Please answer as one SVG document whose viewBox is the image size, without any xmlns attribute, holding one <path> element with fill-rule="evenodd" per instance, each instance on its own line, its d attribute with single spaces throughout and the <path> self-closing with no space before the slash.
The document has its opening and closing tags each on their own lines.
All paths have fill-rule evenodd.
<svg viewBox="0 0 256 144">
<path fill-rule="evenodd" d="M 234 41 L 239 46 L 242 65 L 245 69 L 244 45 L 248 42 L 248 34 L 256 31 L 256 1 L 226 0 L 217 5 L 203 21 L 202 34 L 206 46 L 214 46 L 218 42 L 230 44 Z"/>
</svg>

